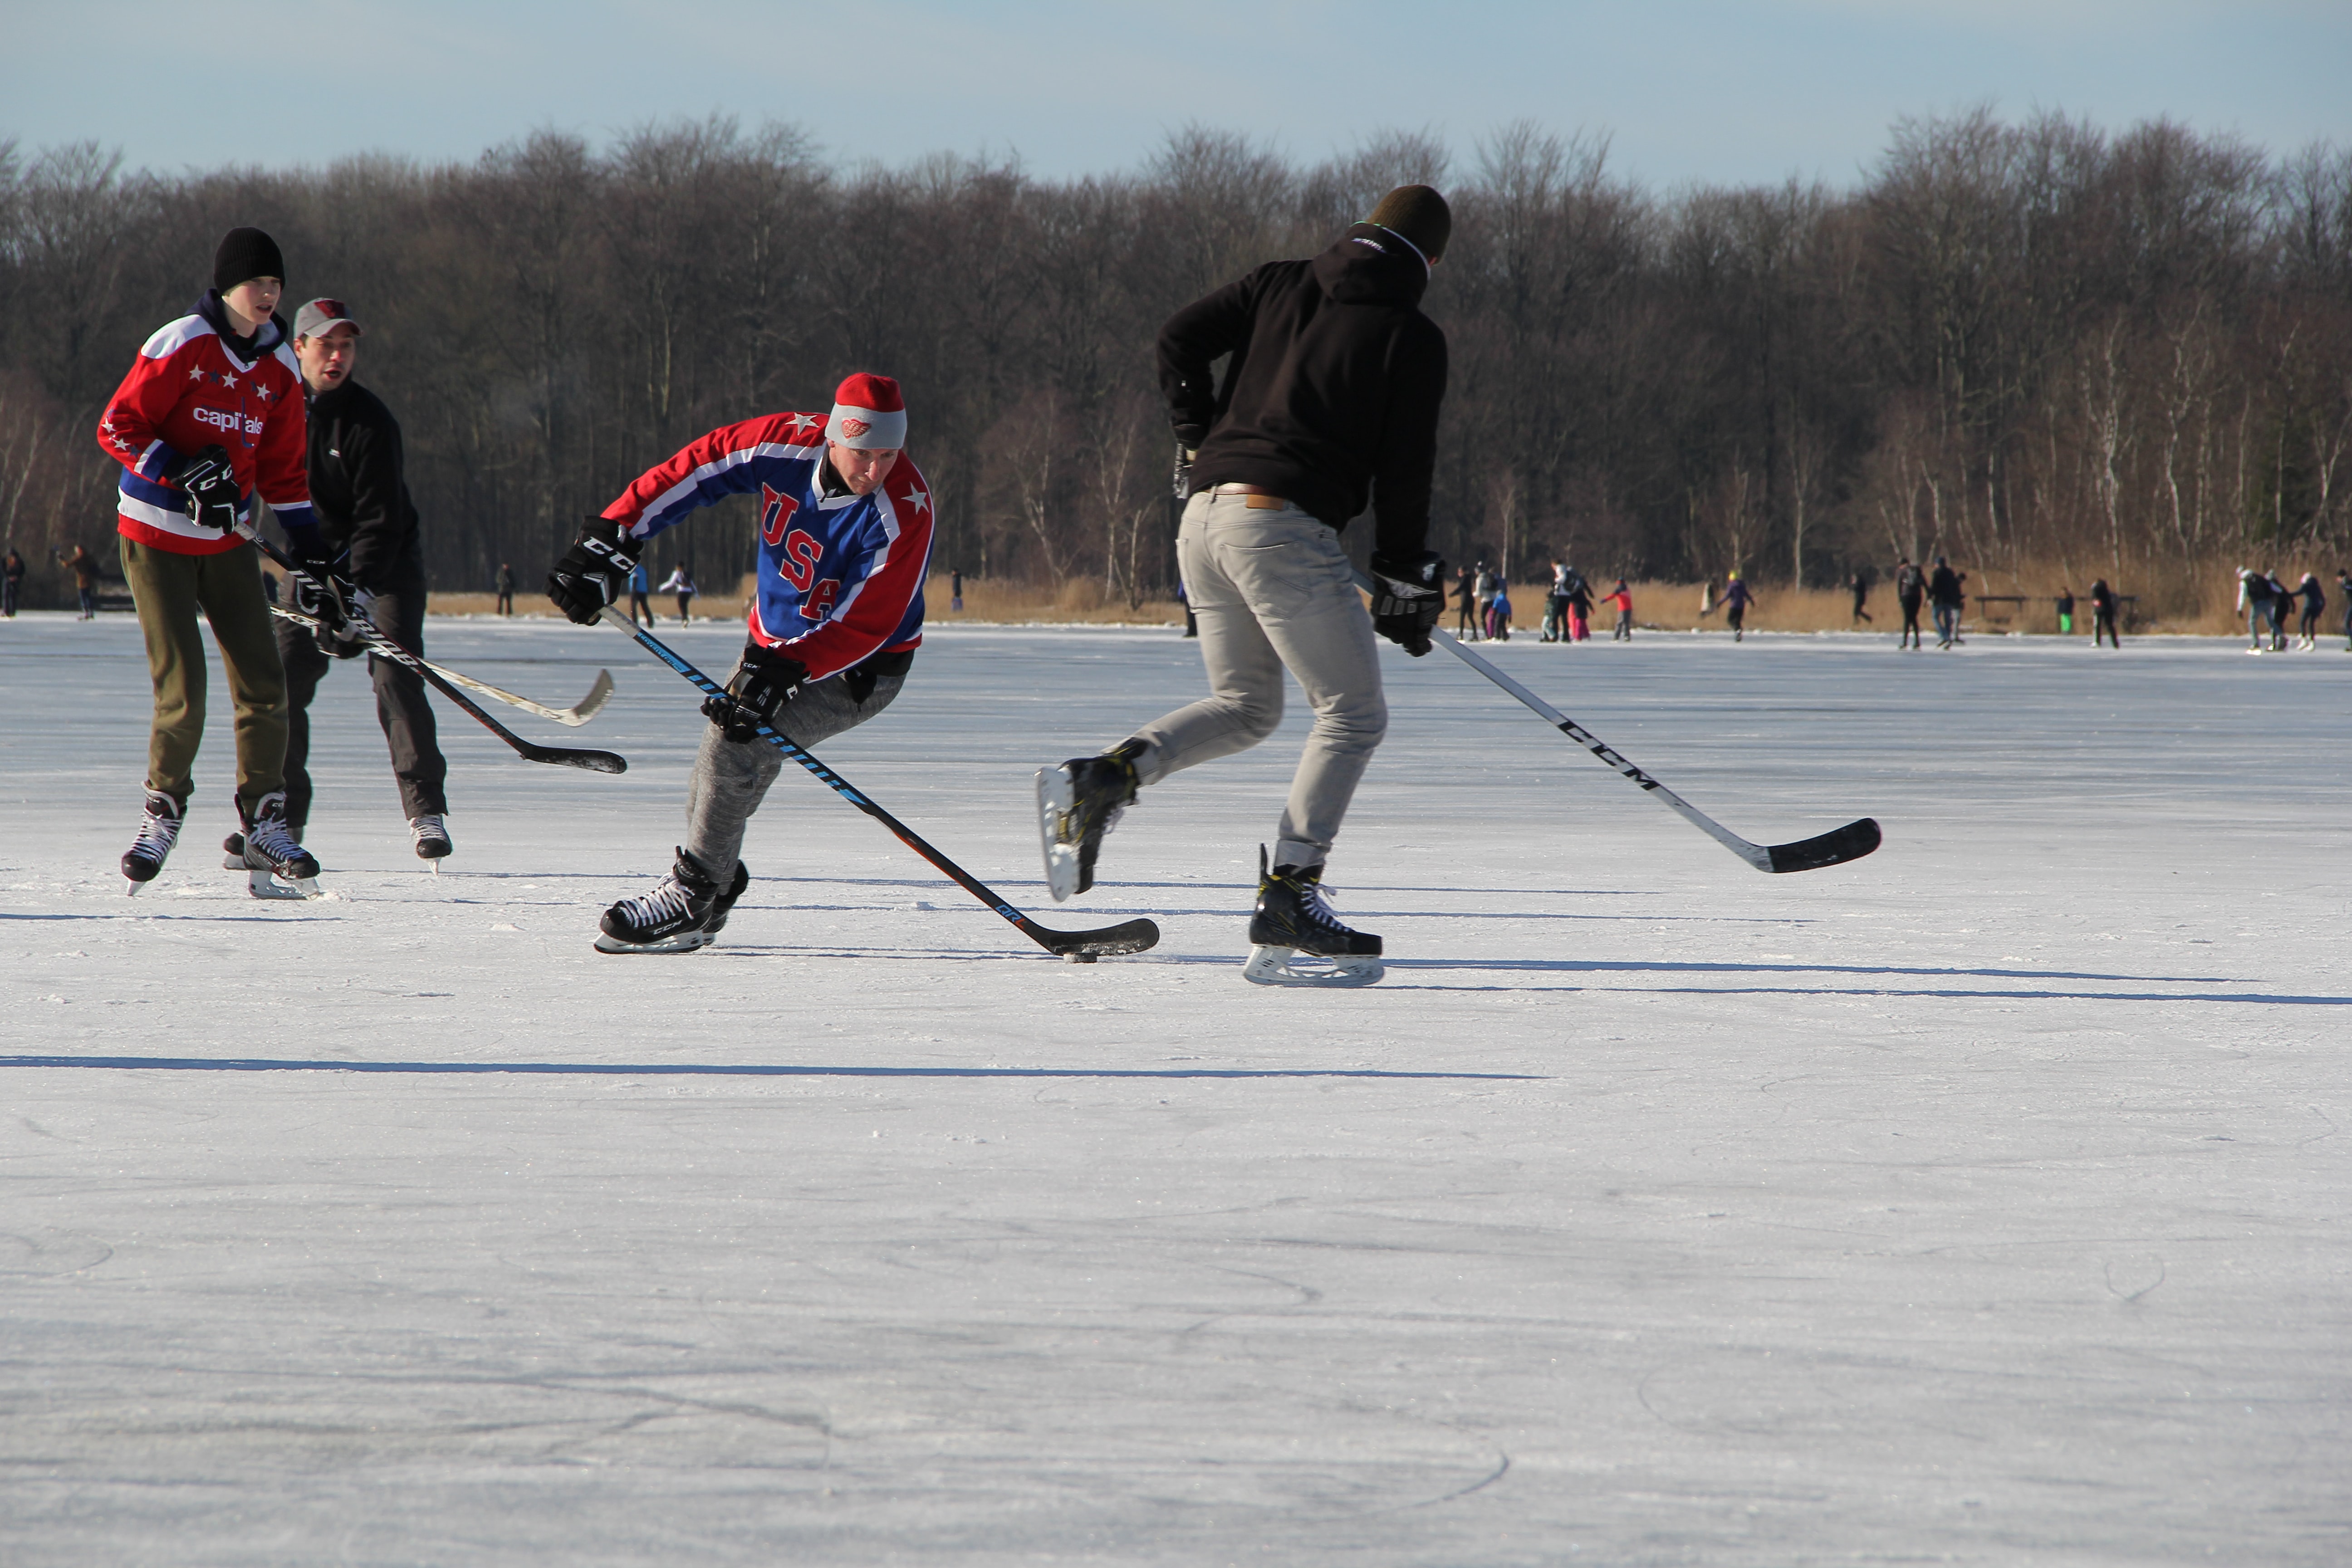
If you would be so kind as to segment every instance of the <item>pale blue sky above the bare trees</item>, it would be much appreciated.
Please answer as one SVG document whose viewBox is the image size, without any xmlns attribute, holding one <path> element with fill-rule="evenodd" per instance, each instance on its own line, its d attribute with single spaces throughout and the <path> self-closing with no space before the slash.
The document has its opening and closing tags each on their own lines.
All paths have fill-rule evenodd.
<svg viewBox="0 0 2352 1568">
<path fill-rule="evenodd" d="M 0 139 L 153 169 L 390 150 L 470 160 L 560 127 L 790 120 L 828 155 L 1129 169 L 1200 120 L 1312 160 L 1428 127 L 1465 165 L 1515 118 L 1602 132 L 1651 186 L 1853 181 L 1900 115 L 1980 101 L 2107 129 L 2171 115 L 2352 146 L 2352 0 L 158 0 L 9 7 Z M 235 24 L 230 33 L 219 21 Z M 259 40 L 259 47 L 247 40 Z"/>
</svg>

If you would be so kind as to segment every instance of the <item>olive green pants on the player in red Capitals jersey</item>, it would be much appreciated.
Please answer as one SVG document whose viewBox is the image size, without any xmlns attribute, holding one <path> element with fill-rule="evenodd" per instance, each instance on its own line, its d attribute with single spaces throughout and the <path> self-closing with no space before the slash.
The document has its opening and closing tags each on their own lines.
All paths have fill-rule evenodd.
<svg viewBox="0 0 2352 1568">
<path fill-rule="evenodd" d="M 195 748 L 205 738 L 205 635 L 195 611 L 205 611 L 238 705 L 238 799 L 252 811 L 285 788 L 287 762 L 287 675 L 261 592 L 261 557 L 245 543 L 219 555 L 176 555 L 125 538 L 122 576 L 139 604 L 155 679 L 148 788 L 181 804 L 195 788 Z"/>
</svg>

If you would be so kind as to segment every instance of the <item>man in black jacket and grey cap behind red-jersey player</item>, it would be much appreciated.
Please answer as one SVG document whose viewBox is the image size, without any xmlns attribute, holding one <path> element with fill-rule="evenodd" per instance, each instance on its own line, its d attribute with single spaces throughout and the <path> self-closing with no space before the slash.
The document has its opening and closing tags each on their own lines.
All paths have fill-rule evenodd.
<svg viewBox="0 0 2352 1568">
<path fill-rule="evenodd" d="M 310 404 L 310 505 L 339 571 L 358 588 L 365 614 L 381 632 L 414 654 L 426 649 L 426 564 L 416 538 L 416 505 L 402 475 L 400 421 L 350 378 L 360 357 L 360 324 L 339 299 L 313 299 L 294 313 L 294 357 Z M 294 609 L 318 604 L 301 583 Z M 310 820 L 310 696 L 334 658 L 365 654 L 358 639 L 341 639 L 292 621 L 278 623 L 278 654 L 287 668 L 287 823 L 301 837 Z M 449 799 L 416 670 L 369 656 L 376 682 L 376 719 L 393 752 L 400 809 L 409 818 L 409 842 L 426 860 L 449 853 Z"/>
</svg>

